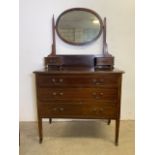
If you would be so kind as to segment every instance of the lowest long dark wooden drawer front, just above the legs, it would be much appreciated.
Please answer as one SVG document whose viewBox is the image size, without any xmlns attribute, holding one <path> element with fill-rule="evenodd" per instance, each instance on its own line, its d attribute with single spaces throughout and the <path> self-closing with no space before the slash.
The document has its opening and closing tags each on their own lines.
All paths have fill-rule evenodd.
<svg viewBox="0 0 155 155">
<path fill-rule="evenodd" d="M 40 104 L 39 114 L 42 117 L 104 117 L 115 118 L 116 107 L 111 105 L 79 105 L 79 104 Z"/>
</svg>

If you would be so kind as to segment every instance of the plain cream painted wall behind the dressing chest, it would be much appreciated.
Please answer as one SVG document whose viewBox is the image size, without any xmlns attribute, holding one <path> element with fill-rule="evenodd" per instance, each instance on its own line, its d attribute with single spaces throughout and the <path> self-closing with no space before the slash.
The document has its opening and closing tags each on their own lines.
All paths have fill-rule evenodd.
<svg viewBox="0 0 155 155">
<path fill-rule="evenodd" d="M 33 71 L 43 68 L 51 51 L 51 19 L 72 7 L 86 7 L 107 17 L 108 49 L 115 67 L 125 71 L 121 119 L 134 119 L 134 0 L 20 0 L 20 121 L 37 119 Z M 58 37 L 58 54 L 99 54 L 101 38 L 89 46 L 74 47 Z"/>
</svg>

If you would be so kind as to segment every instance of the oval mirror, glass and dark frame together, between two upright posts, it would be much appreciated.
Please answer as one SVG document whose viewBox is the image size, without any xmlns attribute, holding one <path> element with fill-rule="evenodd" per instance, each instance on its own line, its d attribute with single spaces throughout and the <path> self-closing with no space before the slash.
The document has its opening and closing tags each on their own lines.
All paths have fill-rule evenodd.
<svg viewBox="0 0 155 155">
<path fill-rule="evenodd" d="M 66 43 L 85 45 L 101 35 L 102 25 L 102 20 L 96 12 L 85 8 L 73 8 L 64 11 L 58 17 L 56 31 Z"/>
</svg>

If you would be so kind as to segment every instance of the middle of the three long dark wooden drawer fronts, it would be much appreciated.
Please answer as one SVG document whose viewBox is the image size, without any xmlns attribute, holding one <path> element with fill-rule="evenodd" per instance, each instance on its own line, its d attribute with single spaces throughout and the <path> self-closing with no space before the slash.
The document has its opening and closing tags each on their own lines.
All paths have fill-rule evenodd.
<svg viewBox="0 0 155 155">
<path fill-rule="evenodd" d="M 40 101 L 51 100 L 116 100 L 116 88 L 38 88 Z"/>
</svg>

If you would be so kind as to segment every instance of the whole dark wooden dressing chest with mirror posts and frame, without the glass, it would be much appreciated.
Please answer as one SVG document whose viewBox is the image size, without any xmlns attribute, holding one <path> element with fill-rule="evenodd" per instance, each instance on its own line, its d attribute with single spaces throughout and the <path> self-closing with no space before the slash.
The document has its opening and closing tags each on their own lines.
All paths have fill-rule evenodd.
<svg viewBox="0 0 155 155">
<path fill-rule="evenodd" d="M 43 118 L 49 118 L 50 122 L 52 118 L 78 118 L 107 119 L 109 123 L 115 120 L 117 145 L 123 71 L 114 69 L 114 57 L 107 52 L 106 19 L 102 23 L 98 17 L 100 31 L 103 31 L 102 55 L 57 55 L 55 29 L 58 29 L 62 15 L 72 11 L 84 11 L 98 17 L 92 10 L 74 8 L 60 15 L 56 27 L 53 18 L 52 52 L 44 59 L 45 68 L 34 71 L 40 143 L 43 140 Z M 61 37 L 59 30 L 57 32 Z M 62 38 L 65 42 L 73 43 L 65 39 Z M 83 43 L 77 41 L 75 44 Z"/>
</svg>

